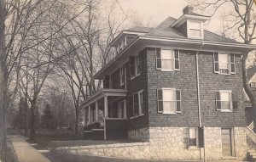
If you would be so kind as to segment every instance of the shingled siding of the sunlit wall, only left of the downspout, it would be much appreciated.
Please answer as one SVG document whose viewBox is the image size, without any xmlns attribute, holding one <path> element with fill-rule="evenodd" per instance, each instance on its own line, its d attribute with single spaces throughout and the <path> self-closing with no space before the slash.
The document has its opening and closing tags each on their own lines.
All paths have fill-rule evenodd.
<svg viewBox="0 0 256 162">
<path fill-rule="evenodd" d="M 155 69 L 155 48 L 147 48 L 149 126 L 199 126 L 196 91 L 195 55 L 180 51 L 180 71 Z M 162 87 L 181 90 L 181 114 L 164 115 L 157 112 L 156 90 Z"/>
</svg>

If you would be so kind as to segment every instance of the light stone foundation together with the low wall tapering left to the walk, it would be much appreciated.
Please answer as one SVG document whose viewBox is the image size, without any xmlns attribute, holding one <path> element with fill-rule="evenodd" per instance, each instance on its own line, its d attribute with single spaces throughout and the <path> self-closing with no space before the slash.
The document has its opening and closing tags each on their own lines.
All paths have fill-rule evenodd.
<svg viewBox="0 0 256 162">
<path fill-rule="evenodd" d="M 207 161 L 242 161 L 247 159 L 247 137 L 245 128 L 233 130 L 236 157 L 223 159 L 220 127 L 205 128 Z M 117 157 L 125 159 L 172 159 L 201 160 L 203 148 L 189 148 L 186 127 L 149 127 L 129 131 L 131 139 L 148 142 L 117 143 L 107 145 L 81 146 L 67 149 L 72 154 L 90 154 L 95 156 Z"/>
</svg>

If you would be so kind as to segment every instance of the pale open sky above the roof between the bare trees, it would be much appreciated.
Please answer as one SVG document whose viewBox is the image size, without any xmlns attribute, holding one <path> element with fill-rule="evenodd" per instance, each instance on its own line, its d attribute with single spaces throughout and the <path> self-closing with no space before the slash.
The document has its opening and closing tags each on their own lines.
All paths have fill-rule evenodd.
<svg viewBox="0 0 256 162">
<path fill-rule="evenodd" d="M 104 14 L 108 14 L 110 8 L 118 8 L 118 14 L 126 14 L 128 17 L 131 14 L 136 14 L 137 17 L 143 19 L 145 24 L 158 25 L 168 16 L 178 19 L 183 14 L 183 8 L 189 3 L 184 0 L 104 0 L 102 8 Z M 228 8 L 224 8 L 229 10 Z M 213 32 L 220 32 L 220 15 L 216 14 L 211 22 L 206 25 L 206 29 Z"/>
</svg>

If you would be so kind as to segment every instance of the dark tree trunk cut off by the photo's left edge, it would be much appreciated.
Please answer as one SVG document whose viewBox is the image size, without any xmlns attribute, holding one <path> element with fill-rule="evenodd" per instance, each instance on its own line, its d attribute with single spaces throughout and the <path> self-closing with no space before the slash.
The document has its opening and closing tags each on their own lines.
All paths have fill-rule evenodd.
<svg viewBox="0 0 256 162">
<path fill-rule="evenodd" d="M 5 25 L 6 10 L 4 0 L 0 0 L 0 160 L 5 161 L 6 151 L 6 128 L 5 110 L 7 105 L 7 67 L 5 47 Z"/>
</svg>

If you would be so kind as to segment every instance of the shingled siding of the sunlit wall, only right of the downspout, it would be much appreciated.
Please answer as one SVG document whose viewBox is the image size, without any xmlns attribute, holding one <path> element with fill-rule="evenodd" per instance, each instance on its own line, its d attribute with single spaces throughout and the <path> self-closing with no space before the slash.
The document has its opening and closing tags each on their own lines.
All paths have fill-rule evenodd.
<svg viewBox="0 0 256 162">
<path fill-rule="evenodd" d="M 212 53 L 199 55 L 199 75 L 201 92 L 201 117 L 203 126 L 246 126 L 243 108 L 243 89 L 241 76 L 241 56 L 236 55 L 236 74 L 219 75 L 213 73 Z M 231 90 L 232 99 L 237 102 L 234 112 L 220 112 L 215 108 L 215 92 Z"/>
</svg>

